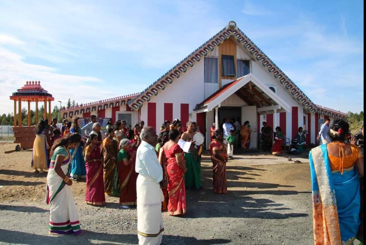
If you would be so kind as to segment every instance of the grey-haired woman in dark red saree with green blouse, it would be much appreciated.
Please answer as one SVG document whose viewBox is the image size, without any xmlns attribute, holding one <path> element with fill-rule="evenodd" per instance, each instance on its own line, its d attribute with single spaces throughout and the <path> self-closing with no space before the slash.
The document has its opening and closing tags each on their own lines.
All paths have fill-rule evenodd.
<svg viewBox="0 0 366 245">
<path fill-rule="evenodd" d="M 138 174 L 135 172 L 136 151 L 131 151 L 131 141 L 123 139 L 119 143 L 118 153 L 118 177 L 120 183 L 119 204 L 122 208 L 129 208 L 137 204 L 136 180 Z"/>
</svg>

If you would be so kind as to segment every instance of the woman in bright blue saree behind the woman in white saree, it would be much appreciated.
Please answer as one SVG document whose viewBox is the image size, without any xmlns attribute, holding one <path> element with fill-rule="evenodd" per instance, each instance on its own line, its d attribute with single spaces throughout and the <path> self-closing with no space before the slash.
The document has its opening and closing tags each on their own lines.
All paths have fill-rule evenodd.
<svg viewBox="0 0 366 245">
<path fill-rule="evenodd" d="M 81 123 L 80 118 L 78 117 L 74 118 L 74 120 L 72 121 L 70 133 L 81 134 L 80 123 Z M 71 149 L 70 151 L 72 159 L 70 177 L 73 180 L 84 179 L 86 176 L 85 160 L 83 156 L 83 145 L 84 141 L 82 139 L 82 141 L 80 141 L 80 144 L 77 147 Z"/>
</svg>

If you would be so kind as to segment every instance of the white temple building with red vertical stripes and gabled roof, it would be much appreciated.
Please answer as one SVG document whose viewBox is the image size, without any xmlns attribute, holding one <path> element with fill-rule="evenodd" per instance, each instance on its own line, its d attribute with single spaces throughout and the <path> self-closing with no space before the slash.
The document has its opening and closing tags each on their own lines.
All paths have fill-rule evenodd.
<svg viewBox="0 0 366 245">
<path fill-rule="evenodd" d="M 265 120 L 280 126 L 286 138 L 298 127 L 307 130 L 307 143 L 316 142 L 320 124 L 345 119 L 340 111 L 321 107 L 287 77 L 237 26 L 234 21 L 153 82 L 144 91 L 61 110 L 72 116 L 125 119 L 127 125 L 145 121 L 157 129 L 164 120 L 195 121 L 210 141 L 210 127 L 225 117 L 252 127 L 251 148 Z"/>
</svg>

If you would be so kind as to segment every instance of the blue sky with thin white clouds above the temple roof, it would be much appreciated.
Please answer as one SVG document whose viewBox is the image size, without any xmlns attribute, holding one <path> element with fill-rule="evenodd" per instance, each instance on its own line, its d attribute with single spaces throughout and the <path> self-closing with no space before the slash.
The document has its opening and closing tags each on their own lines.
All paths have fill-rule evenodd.
<svg viewBox="0 0 366 245">
<path fill-rule="evenodd" d="M 27 80 L 63 104 L 141 92 L 231 20 L 315 104 L 363 111 L 363 1 L 131 3 L 0 0 L 0 113 Z"/>
</svg>

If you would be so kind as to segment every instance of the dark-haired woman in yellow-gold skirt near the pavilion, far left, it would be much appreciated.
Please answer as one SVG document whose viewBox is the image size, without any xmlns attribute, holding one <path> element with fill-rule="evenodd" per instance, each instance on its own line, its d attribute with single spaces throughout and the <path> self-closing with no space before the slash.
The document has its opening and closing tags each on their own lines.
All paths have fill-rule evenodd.
<svg viewBox="0 0 366 245">
<path fill-rule="evenodd" d="M 48 163 L 48 141 L 47 138 L 48 130 L 46 129 L 46 124 L 44 120 L 40 120 L 37 127 L 34 129 L 36 133 L 36 138 L 33 142 L 32 160 L 31 166 L 33 167 L 33 172 L 44 173 L 44 169 L 49 167 Z M 39 171 L 38 171 L 39 169 Z"/>
</svg>

